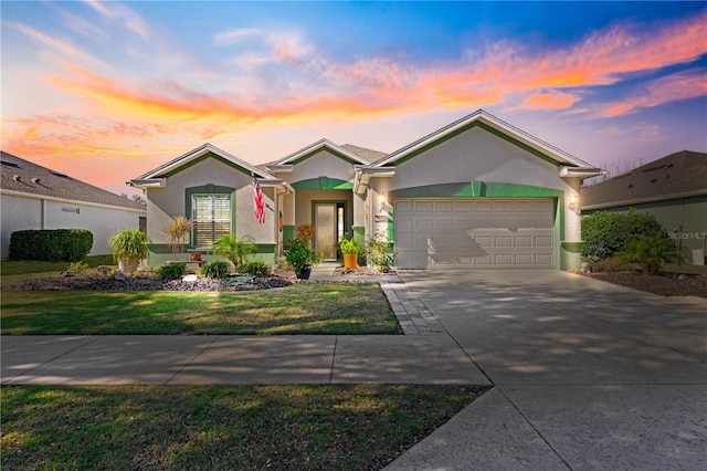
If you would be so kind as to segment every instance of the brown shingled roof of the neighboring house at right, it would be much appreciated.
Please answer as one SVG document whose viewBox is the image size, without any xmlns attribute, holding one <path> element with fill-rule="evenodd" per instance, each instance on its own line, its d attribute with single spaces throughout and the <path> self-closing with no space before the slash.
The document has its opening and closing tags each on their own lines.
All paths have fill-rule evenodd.
<svg viewBox="0 0 707 471">
<path fill-rule="evenodd" d="M 707 154 L 682 150 L 581 189 L 583 209 L 707 195 Z"/>
</svg>

